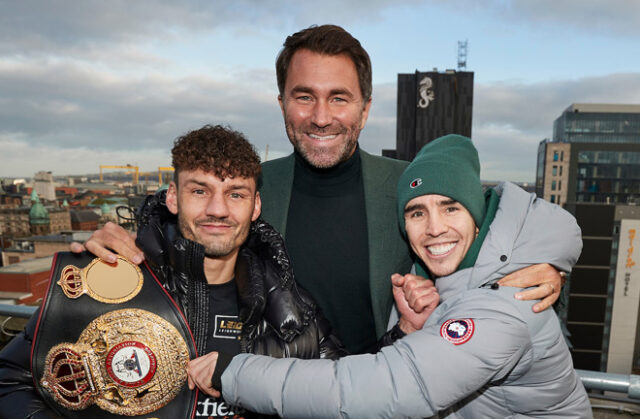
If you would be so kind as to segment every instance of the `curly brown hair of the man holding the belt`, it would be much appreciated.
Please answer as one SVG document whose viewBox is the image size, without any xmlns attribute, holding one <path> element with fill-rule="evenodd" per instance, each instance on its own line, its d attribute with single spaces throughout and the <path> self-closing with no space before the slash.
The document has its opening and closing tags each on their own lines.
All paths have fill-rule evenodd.
<svg viewBox="0 0 640 419">
<path fill-rule="evenodd" d="M 220 179 L 260 176 L 260 157 L 245 136 L 231 127 L 205 125 L 177 138 L 171 149 L 173 179 L 181 170 L 201 169 Z"/>
</svg>

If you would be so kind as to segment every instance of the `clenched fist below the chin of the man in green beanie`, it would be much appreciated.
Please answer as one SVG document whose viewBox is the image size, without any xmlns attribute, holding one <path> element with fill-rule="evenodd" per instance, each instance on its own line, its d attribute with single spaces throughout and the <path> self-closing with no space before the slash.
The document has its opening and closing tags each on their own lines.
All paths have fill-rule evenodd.
<svg viewBox="0 0 640 419">
<path fill-rule="evenodd" d="M 433 281 L 413 274 L 393 274 L 391 283 L 393 298 L 400 313 L 400 329 L 406 334 L 422 329 L 440 302 Z"/>
</svg>

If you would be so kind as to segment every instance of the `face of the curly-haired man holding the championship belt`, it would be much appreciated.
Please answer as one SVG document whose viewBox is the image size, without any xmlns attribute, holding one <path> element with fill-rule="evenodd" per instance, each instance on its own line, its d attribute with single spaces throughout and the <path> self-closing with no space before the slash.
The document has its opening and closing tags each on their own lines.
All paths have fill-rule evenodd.
<svg viewBox="0 0 640 419">
<path fill-rule="evenodd" d="M 210 258 L 235 256 L 260 215 L 253 178 L 220 179 L 201 169 L 181 170 L 171 182 L 167 208 L 178 215 L 182 235 L 200 243 Z"/>
</svg>

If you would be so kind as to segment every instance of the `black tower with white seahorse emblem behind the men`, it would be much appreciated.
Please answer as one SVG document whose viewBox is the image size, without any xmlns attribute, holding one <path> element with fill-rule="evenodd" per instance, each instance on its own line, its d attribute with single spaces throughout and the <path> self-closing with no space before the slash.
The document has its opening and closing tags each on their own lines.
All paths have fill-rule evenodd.
<svg viewBox="0 0 640 419">
<path fill-rule="evenodd" d="M 446 70 L 398 74 L 396 149 L 383 155 L 413 160 L 438 137 L 471 137 L 473 72 Z"/>
</svg>

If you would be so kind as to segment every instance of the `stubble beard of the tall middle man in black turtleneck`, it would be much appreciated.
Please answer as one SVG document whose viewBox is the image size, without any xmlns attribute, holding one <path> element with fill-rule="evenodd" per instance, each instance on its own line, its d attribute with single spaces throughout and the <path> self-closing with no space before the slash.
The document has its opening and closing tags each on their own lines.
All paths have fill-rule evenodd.
<svg viewBox="0 0 640 419">
<path fill-rule="evenodd" d="M 360 120 L 361 119 L 362 118 L 360 118 Z M 293 148 L 302 156 L 302 158 L 305 159 L 307 163 L 317 169 L 329 169 L 348 160 L 353 154 L 356 144 L 358 143 L 358 137 L 360 136 L 360 120 L 348 128 L 340 125 L 341 129 L 339 130 L 339 135 L 344 135 L 346 141 L 341 145 L 337 152 L 325 148 L 315 149 L 309 145 L 309 143 L 305 143 L 305 141 L 302 140 L 302 137 L 307 132 L 323 134 L 324 131 L 329 131 L 327 128 L 310 127 L 307 129 L 305 127 L 296 131 L 287 120 L 285 120 L 285 128 L 289 141 L 293 144 Z M 335 130 L 332 130 L 332 132 L 335 132 Z"/>
</svg>

